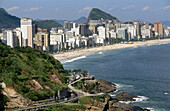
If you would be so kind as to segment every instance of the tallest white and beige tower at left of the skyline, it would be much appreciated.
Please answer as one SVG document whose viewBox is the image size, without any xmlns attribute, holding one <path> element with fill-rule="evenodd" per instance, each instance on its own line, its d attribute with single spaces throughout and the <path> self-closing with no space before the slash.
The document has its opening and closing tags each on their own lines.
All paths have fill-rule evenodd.
<svg viewBox="0 0 170 111">
<path fill-rule="evenodd" d="M 23 38 L 23 46 L 33 47 L 33 23 L 32 19 L 21 18 L 21 32 Z"/>
</svg>

